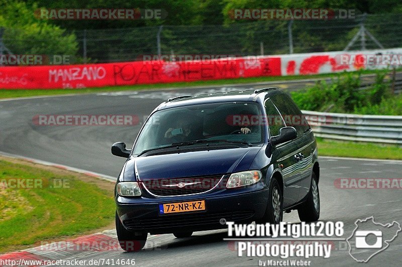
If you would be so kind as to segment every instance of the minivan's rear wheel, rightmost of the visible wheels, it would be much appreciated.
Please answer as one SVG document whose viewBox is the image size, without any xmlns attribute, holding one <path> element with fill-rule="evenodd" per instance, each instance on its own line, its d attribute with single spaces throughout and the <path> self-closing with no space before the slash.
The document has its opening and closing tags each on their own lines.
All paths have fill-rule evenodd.
<svg viewBox="0 0 402 267">
<path fill-rule="evenodd" d="M 320 192 L 314 171 L 311 177 L 310 191 L 307 195 L 307 199 L 298 206 L 297 213 L 302 222 L 314 222 L 320 218 Z"/>
</svg>

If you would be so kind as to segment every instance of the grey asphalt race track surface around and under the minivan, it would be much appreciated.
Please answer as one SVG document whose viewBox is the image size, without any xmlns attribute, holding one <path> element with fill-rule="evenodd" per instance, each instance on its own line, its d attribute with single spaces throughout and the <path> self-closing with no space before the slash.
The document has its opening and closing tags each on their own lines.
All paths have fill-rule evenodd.
<svg viewBox="0 0 402 267">
<path fill-rule="evenodd" d="M 314 81 L 312 81 L 314 83 Z M 284 85 L 283 85 L 284 84 Z M 280 83 L 293 90 L 297 82 Z M 42 97 L 0 101 L 0 151 L 50 161 L 89 171 L 117 176 L 124 158 L 113 156 L 114 142 L 131 147 L 144 117 L 161 102 L 179 95 L 262 87 L 239 85 L 148 92 L 99 93 L 83 96 Z M 39 126 L 36 115 L 135 115 L 135 126 Z M 321 158 L 321 217 L 323 221 L 343 221 L 344 237 L 351 235 L 357 219 L 374 216 L 376 222 L 402 225 L 402 191 L 398 189 L 338 189 L 339 178 L 400 178 L 402 162 Z M 114 211 L 111 211 L 114 212 Z M 297 212 L 284 214 L 284 221 L 299 222 Z M 196 232 L 190 238 L 177 239 L 171 234 L 150 236 L 140 252 L 103 251 L 82 253 L 79 259 L 131 259 L 140 266 L 221 266 L 254 265 L 267 257 L 238 257 L 234 243 L 224 241 L 225 230 Z M 386 250 L 372 257 L 368 265 L 398 265 L 402 259 L 402 233 Z M 277 259 L 280 258 L 270 258 Z M 335 241 L 331 257 L 310 258 L 312 265 L 358 265 L 349 255 L 344 241 Z"/>
</svg>

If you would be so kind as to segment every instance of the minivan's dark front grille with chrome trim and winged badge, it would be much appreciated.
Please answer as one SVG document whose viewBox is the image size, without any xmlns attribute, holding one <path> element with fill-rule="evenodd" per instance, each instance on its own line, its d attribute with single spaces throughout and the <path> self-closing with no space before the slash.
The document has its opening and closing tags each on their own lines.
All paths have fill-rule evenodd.
<svg viewBox="0 0 402 267">
<path fill-rule="evenodd" d="M 201 194 L 213 189 L 223 175 L 155 179 L 142 181 L 144 188 L 158 197 Z"/>
</svg>

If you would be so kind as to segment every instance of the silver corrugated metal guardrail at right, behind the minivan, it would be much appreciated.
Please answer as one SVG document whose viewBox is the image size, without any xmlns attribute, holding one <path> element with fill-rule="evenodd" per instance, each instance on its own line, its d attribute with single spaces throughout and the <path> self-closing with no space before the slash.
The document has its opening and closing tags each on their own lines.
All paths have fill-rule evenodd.
<svg viewBox="0 0 402 267">
<path fill-rule="evenodd" d="M 402 145 L 402 116 L 302 112 L 318 137 Z"/>
</svg>

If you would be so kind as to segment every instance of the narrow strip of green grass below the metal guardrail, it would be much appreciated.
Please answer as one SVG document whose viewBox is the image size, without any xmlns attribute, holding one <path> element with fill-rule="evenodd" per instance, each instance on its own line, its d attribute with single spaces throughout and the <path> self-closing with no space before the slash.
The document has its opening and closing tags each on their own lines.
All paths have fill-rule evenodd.
<svg viewBox="0 0 402 267">
<path fill-rule="evenodd" d="M 402 159 L 402 148 L 398 145 L 343 142 L 317 138 L 317 146 L 320 156 Z"/>
</svg>

